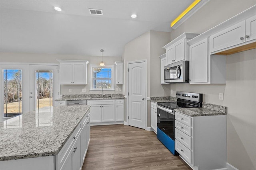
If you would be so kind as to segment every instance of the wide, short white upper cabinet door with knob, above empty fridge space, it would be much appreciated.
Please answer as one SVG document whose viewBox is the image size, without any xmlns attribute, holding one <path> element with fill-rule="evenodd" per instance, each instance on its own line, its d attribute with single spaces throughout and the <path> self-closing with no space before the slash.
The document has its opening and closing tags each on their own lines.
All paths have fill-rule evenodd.
<svg viewBox="0 0 256 170">
<path fill-rule="evenodd" d="M 245 21 L 210 36 L 210 52 L 245 42 Z"/>
</svg>

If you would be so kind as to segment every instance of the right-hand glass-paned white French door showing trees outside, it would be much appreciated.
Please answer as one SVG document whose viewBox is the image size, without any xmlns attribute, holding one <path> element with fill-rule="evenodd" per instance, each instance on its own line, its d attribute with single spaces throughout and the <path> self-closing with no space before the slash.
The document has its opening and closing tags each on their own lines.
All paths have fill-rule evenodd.
<svg viewBox="0 0 256 170">
<path fill-rule="evenodd" d="M 29 111 L 55 106 L 58 65 L 29 65 Z"/>
</svg>

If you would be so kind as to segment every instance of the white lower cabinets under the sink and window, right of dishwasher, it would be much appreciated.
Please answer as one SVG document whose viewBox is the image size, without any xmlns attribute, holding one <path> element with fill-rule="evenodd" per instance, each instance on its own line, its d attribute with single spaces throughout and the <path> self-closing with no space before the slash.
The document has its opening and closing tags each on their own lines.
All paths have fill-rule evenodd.
<svg viewBox="0 0 256 170">
<path fill-rule="evenodd" d="M 90 122 L 94 125 L 124 121 L 124 100 L 88 100 L 88 105 L 91 105 Z"/>
</svg>

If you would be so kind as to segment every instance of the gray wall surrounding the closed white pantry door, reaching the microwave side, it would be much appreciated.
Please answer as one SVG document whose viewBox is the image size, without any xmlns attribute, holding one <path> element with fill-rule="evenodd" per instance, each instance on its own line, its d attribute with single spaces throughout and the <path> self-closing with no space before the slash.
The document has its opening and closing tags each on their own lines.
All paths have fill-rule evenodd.
<svg viewBox="0 0 256 170">
<path fill-rule="evenodd" d="M 169 32 L 148 31 L 127 43 L 124 47 L 124 77 L 127 84 L 127 63 L 129 61 L 147 60 L 147 96 L 169 96 L 170 86 L 160 84 L 160 58 L 165 53 L 162 48 L 170 42 Z M 125 94 L 127 94 L 127 86 L 124 85 Z M 150 127 L 150 102 L 148 105 L 147 126 Z M 126 121 L 125 111 L 125 121 Z"/>
</svg>

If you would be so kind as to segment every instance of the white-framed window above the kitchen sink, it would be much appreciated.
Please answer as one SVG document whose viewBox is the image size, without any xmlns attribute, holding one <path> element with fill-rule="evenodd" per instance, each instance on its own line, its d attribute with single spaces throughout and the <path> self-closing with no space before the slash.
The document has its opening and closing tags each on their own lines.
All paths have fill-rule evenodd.
<svg viewBox="0 0 256 170">
<path fill-rule="evenodd" d="M 113 66 L 90 65 L 90 90 L 114 90 Z"/>
</svg>

